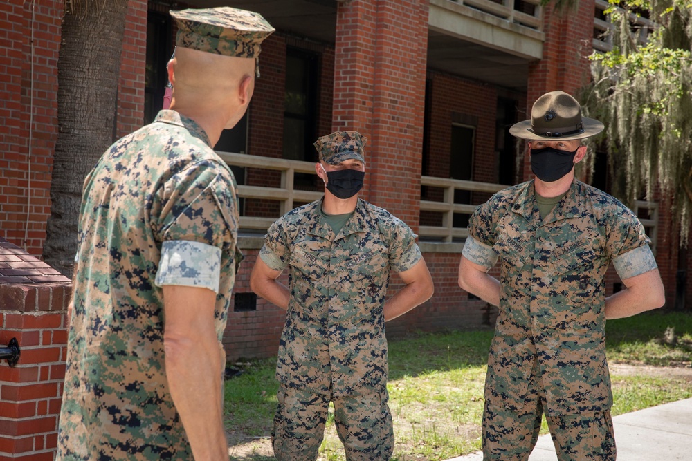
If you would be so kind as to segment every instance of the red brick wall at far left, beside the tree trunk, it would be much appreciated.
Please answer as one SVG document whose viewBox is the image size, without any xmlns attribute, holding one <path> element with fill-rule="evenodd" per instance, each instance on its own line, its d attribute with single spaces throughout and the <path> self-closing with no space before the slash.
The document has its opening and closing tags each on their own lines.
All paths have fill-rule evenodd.
<svg viewBox="0 0 692 461">
<path fill-rule="evenodd" d="M 0 237 L 31 254 L 42 252 L 50 214 L 62 5 L 0 3 Z"/>
</svg>

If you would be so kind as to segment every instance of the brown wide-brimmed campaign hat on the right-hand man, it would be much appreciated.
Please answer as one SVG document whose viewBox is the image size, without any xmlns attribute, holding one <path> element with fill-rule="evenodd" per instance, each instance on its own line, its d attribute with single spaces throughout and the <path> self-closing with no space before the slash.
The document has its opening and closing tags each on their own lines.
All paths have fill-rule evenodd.
<svg viewBox="0 0 692 461">
<path fill-rule="evenodd" d="M 513 124 L 509 133 L 528 140 L 575 140 L 603 131 L 603 123 L 582 117 L 581 106 L 564 91 L 539 97 L 531 108 L 531 120 Z"/>
</svg>

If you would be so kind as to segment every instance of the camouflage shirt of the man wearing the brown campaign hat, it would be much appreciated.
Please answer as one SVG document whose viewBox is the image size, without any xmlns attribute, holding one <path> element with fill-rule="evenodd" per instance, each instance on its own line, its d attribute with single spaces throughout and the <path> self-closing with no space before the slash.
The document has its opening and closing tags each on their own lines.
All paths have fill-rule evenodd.
<svg viewBox="0 0 692 461">
<path fill-rule="evenodd" d="M 500 312 L 486 400 L 520 410 L 538 359 L 548 415 L 612 406 L 605 361 L 605 271 L 621 278 L 655 269 L 637 217 L 577 180 L 544 220 L 529 181 L 477 207 L 464 245 L 469 261 L 500 259 Z"/>
</svg>

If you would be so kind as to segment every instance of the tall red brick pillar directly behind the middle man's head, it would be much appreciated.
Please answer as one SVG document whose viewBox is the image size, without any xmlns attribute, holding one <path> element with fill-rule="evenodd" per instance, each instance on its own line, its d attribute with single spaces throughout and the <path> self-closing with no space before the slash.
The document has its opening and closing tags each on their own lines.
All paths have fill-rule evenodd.
<svg viewBox="0 0 692 461">
<path fill-rule="evenodd" d="M 414 229 L 419 221 L 427 48 L 427 1 L 338 5 L 332 127 L 367 136 L 361 197 Z"/>
</svg>

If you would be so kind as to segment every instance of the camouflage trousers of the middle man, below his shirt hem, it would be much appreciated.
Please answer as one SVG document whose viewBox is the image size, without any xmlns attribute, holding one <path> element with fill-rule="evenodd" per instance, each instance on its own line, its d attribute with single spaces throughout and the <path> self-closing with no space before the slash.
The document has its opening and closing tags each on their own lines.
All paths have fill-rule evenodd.
<svg viewBox="0 0 692 461">
<path fill-rule="evenodd" d="M 325 435 L 329 402 L 347 461 L 386 461 L 394 450 L 387 391 L 337 397 L 280 386 L 271 441 L 277 461 L 314 461 Z"/>
</svg>

